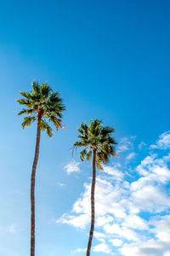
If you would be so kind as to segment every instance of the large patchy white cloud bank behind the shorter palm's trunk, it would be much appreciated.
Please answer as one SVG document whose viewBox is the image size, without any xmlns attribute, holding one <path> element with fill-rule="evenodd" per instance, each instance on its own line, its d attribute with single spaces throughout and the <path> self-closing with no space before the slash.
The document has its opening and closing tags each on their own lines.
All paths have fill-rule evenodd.
<svg viewBox="0 0 170 256">
<path fill-rule="evenodd" d="M 157 140 L 159 148 L 168 149 L 167 134 L 164 132 Z M 131 145 L 133 153 L 132 138 L 130 143 L 127 138 L 122 142 Z M 124 164 L 120 160 L 105 166 L 96 178 L 94 253 L 170 255 L 170 154 L 154 154 L 156 147 L 151 146 L 152 152 L 146 152 L 143 160 L 133 166 L 133 176 L 126 174 L 128 168 L 132 169 L 129 159 Z M 71 212 L 63 214 L 57 223 L 70 224 L 88 234 L 90 185 L 84 183 L 84 191 Z"/>
</svg>

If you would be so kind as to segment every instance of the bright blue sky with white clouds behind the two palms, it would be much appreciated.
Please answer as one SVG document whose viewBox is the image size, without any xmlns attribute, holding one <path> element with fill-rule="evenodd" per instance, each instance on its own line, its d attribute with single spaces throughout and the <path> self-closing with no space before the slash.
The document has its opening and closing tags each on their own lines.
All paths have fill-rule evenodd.
<svg viewBox="0 0 170 256">
<path fill-rule="evenodd" d="M 93 255 L 170 255 L 169 9 L 167 1 L 1 1 L 0 255 L 29 255 L 36 125 L 21 129 L 16 99 L 33 79 L 48 81 L 67 108 L 66 130 L 41 138 L 37 254 L 85 254 L 91 166 L 69 148 L 77 126 L 99 117 L 116 128 L 121 158 L 98 172 Z"/>
</svg>

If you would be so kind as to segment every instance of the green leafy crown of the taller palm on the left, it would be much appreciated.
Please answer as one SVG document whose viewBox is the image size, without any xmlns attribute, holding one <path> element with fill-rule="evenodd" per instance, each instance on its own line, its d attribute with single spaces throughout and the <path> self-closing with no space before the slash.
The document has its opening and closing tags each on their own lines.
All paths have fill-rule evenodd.
<svg viewBox="0 0 170 256">
<path fill-rule="evenodd" d="M 26 106 L 18 115 L 23 113 L 28 115 L 24 118 L 22 127 L 24 129 L 25 126 L 30 126 L 37 116 L 41 119 L 41 130 L 47 131 L 48 137 L 52 137 L 53 130 L 48 125 L 48 121 L 53 123 L 57 130 L 59 128 L 65 129 L 65 126 L 61 125 L 61 112 L 65 110 L 65 106 L 62 103 L 59 92 L 53 92 L 47 83 L 40 85 L 34 81 L 31 85 L 32 90 L 30 93 L 20 91 L 24 98 L 17 100 L 21 105 Z"/>
</svg>

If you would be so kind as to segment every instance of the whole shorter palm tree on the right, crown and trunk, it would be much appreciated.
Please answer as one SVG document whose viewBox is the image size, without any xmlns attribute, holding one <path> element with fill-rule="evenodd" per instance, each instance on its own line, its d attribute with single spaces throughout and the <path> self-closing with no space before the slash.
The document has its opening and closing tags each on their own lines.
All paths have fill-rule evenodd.
<svg viewBox="0 0 170 256">
<path fill-rule="evenodd" d="M 102 164 L 107 164 L 111 156 L 116 156 L 115 145 L 116 141 L 111 137 L 111 133 L 115 131 L 114 128 L 101 125 L 99 119 L 90 121 L 90 125 L 82 123 L 79 131 L 78 138 L 80 141 L 74 143 L 73 148 L 83 147 L 84 149 L 80 153 L 80 158 L 82 161 L 90 160 L 93 155 L 93 176 L 91 185 L 91 226 L 88 237 L 88 247 L 86 256 L 90 256 L 92 239 L 94 236 L 94 190 L 95 190 L 95 179 L 96 179 L 96 166 L 99 170 L 103 169 Z"/>
</svg>

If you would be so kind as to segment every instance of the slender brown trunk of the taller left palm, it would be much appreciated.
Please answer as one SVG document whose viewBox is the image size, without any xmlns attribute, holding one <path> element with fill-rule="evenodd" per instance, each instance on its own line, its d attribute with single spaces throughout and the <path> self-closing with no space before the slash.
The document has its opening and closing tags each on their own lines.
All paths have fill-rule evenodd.
<svg viewBox="0 0 170 256">
<path fill-rule="evenodd" d="M 35 255 L 35 178 L 36 178 L 36 168 L 37 160 L 39 156 L 39 145 L 41 136 L 41 119 L 42 114 L 37 113 L 37 139 L 36 139 L 36 150 L 34 154 L 34 161 L 31 170 L 31 256 Z"/>
</svg>

